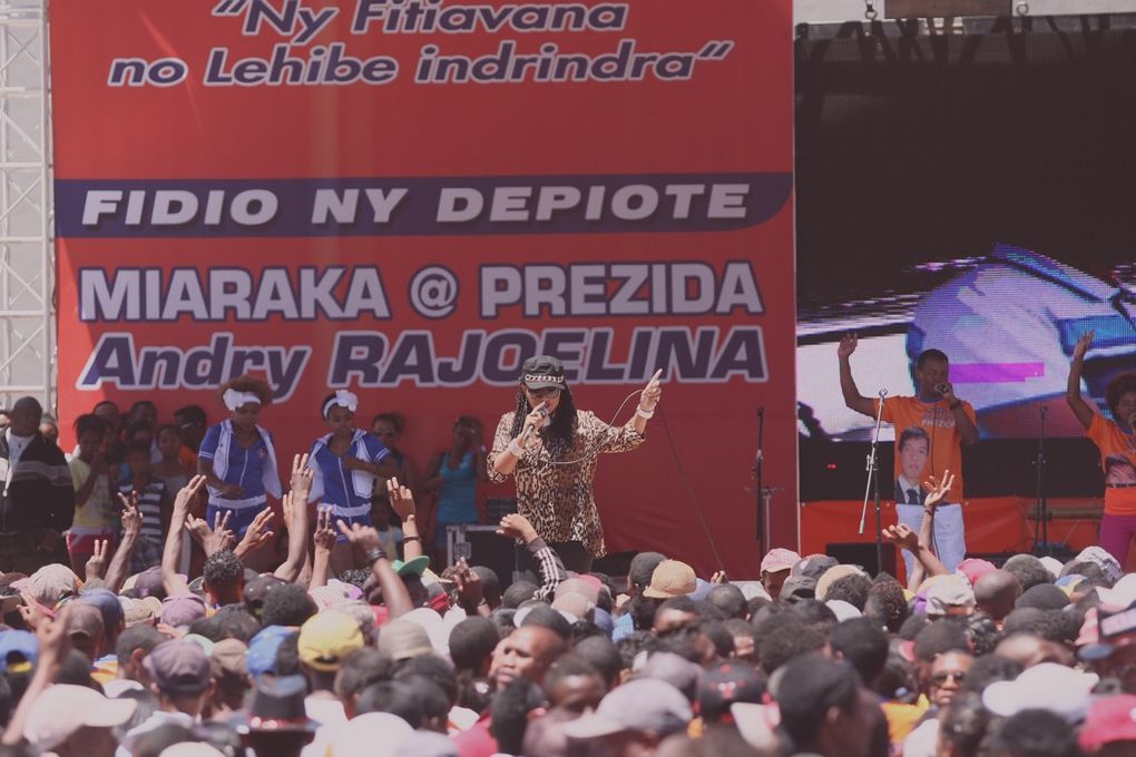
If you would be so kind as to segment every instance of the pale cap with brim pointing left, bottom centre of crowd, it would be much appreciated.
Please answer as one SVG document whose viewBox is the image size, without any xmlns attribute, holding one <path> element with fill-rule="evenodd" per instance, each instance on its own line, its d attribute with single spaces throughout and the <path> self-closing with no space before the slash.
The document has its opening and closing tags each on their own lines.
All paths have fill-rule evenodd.
<svg viewBox="0 0 1136 757">
<path fill-rule="evenodd" d="M 660 738 L 686 730 L 694 717 L 686 697 L 669 683 L 636 679 L 612 689 L 594 713 L 566 723 L 569 739 L 596 739 L 627 731 Z"/>
</svg>

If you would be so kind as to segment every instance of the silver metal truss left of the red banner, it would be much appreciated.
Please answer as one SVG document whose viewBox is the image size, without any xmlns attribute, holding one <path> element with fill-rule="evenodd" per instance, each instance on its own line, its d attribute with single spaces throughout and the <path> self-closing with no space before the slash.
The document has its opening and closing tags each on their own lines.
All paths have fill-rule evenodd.
<svg viewBox="0 0 1136 757">
<path fill-rule="evenodd" d="M 0 2 L 0 407 L 56 407 L 48 0 Z"/>
</svg>

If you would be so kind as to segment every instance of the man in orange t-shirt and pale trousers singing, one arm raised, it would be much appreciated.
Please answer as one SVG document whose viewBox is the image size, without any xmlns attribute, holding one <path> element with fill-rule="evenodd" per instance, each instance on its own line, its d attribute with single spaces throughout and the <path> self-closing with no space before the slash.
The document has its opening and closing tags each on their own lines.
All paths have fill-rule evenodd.
<svg viewBox="0 0 1136 757">
<path fill-rule="evenodd" d="M 876 418 L 879 399 L 861 395 L 852 378 L 849 359 L 855 347 L 857 335 L 849 334 L 836 350 L 844 404 L 858 413 Z M 916 396 L 887 397 L 882 418 L 900 431 L 895 435 L 895 511 L 901 523 L 913 531 L 919 530 L 927 494 L 919 488 L 919 481 L 942 476 L 945 471 L 955 473 L 946 498 L 929 508 L 935 519 L 935 554 L 949 571 L 954 572 L 967 554 L 962 506 L 959 504 L 962 502 L 962 445 L 978 443 L 978 426 L 975 409 L 954 395 L 950 370 L 950 361 L 943 352 L 921 352 L 912 370 Z M 903 560 L 908 563 L 910 575 L 914 558 L 904 552 Z"/>
</svg>

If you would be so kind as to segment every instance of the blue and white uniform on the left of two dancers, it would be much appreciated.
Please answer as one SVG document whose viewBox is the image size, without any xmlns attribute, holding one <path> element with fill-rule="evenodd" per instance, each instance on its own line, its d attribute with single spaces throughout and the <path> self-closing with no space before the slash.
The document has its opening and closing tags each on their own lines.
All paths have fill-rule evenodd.
<svg viewBox="0 0 1136 757">
<path fill-rule="evenodd" d="M 276 469 L 276 449 L 273 437 L 257 427 L 257 440 L 248 449 L 236 441 L 233 421 L 227 420 L 211 427 L 201 440 L 201 460 L 210 460 L 214 474 L 225 483 L 239 483 L 244 490 L 240 498 L 231 499 L 220 489 L 209 487 L 209 510 L 206 519 L 214 522 L 217 513 L 232 511 L 228 528 L 237 538 L 244 536 L 252 520 L 268 506 L 267 495 L 279 497 L 279 473 Z"/>
</svg>

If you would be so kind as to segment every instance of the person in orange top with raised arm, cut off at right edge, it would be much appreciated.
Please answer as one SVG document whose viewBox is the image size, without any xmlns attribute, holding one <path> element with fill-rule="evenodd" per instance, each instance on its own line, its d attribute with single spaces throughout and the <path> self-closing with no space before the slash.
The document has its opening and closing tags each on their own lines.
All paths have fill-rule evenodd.
<svg viewBox="0 0 1136 757">
<path fill-rule="evenodd" d="M 1124 565 L 1128 557 L 1128 545 L 1136 535 L 1136 375 L 1124 373 L 1109 381 L 1104 401 L 1113 420 L 1108 420 L 1080 396 L 1080 371 L 1085 364 L 1085 353 L 1093 344 L 1093 331 L 1088 331 L 1072 348 L 1069 364 L 1069 385 L 1066 401 L 1080 424 L 1085 436 L 1101 451 L 1101 468 L 1104 470 L 1104 515 L 1101 518 L 1101 547 Z"/>
</svg>

